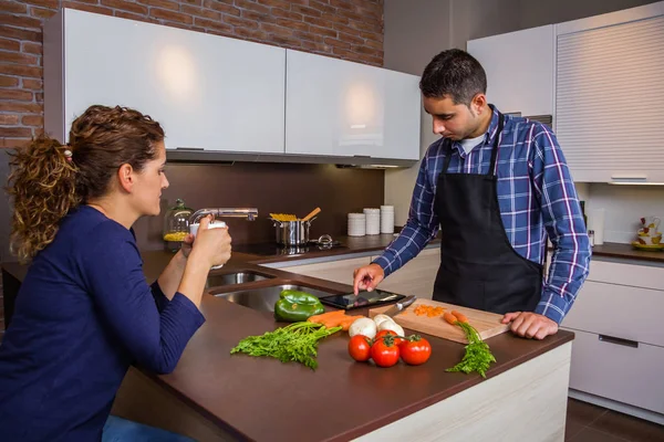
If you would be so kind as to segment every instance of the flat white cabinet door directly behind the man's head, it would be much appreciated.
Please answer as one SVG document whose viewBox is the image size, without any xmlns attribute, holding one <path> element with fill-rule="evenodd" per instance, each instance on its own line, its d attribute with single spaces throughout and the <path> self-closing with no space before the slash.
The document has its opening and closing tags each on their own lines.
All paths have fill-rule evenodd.
<svg viewBox="0 0 664 442">
<path fill-rule="evenodd" d="M 504 113 L 553 115 L 553 25 L 469 40 L 487 73 L 487 98 Z"/>
</svg>

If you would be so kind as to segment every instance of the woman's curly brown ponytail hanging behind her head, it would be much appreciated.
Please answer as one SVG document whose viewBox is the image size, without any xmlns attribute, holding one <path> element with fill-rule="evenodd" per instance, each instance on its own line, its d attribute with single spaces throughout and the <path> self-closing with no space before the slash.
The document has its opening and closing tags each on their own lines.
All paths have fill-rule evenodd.
<svg viewBox="0 0 664 442">
<path fill-rule="evenodd" d="M 76 208 L 76 167 L 69 147 L 42 135 L 10 154 L 7 191 L 13 199 L 10 250 L 29 262 L 55 238 L 60 221 Z"/>
</svg>

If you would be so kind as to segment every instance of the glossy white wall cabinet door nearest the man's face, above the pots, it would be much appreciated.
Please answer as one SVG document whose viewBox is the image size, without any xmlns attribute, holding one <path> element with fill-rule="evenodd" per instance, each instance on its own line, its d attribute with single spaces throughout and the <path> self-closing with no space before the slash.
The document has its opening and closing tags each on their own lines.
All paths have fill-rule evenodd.
<svg viewBox="0 0 664 442">
<path fill-rule="evenodd" d="M 286 152 L 419 159 L 418 77 L 287 51 Z"/>
</svg>

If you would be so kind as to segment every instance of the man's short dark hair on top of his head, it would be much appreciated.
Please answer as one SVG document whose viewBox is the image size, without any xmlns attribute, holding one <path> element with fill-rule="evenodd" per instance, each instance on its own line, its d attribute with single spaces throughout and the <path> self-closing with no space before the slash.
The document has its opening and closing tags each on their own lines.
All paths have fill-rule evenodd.
<svg viewBox="0 0 664 442">
<path fill-rule="evenodd" d="M 473 97 L 487 92 L 487 74 L 481 64 L 466 51 L 440 52 L 426 65 L 419 90 L 427 98 L 449 96 L 455 104 L 470 106 Z"/>
</svg>

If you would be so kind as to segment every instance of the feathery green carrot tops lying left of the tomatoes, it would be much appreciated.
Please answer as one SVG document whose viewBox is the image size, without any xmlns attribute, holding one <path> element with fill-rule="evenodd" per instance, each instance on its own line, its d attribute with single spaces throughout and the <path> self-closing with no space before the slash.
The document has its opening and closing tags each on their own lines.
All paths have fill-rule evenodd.
<svg viewBox="0 0 664 442">
<path fill-rule="evenodd" d="M 341 330 L 341 327 L 325 328 L 322 324 L 295 323 L 268 332 L 262 336 L 249 336 L 230 354 L 243 352 L 249 356 L 269 356 L 282 362 L 295 361 L 315 370 L 318 341 Z"/>
</svg>

